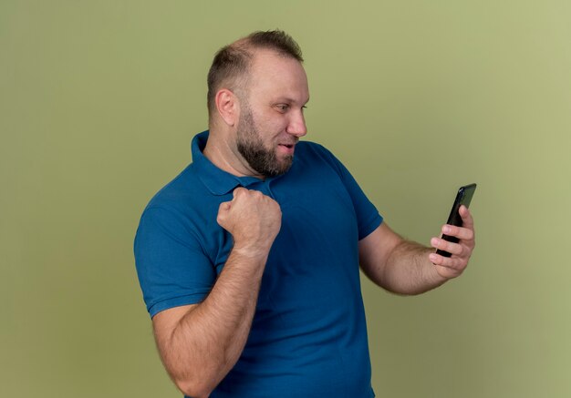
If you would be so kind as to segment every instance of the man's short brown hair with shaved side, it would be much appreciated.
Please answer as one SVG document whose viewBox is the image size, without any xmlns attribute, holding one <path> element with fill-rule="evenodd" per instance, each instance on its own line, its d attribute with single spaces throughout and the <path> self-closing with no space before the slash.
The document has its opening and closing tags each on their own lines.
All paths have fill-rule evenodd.
<svg viewBox="0 0 571 398">
<path fill-rule="evenodd" d="M 223 46 L 214 56 L 208 72 L 207 106 L 211 119 L 216 109 L 214 98 L 218 90 L 223 86 L 231 90 L 244 88 L 255 49 L 273 50 L 280 56 L 304 61 L 296 40 L 281 30 L 257 31 L 231 45 Z"/>
</svg>

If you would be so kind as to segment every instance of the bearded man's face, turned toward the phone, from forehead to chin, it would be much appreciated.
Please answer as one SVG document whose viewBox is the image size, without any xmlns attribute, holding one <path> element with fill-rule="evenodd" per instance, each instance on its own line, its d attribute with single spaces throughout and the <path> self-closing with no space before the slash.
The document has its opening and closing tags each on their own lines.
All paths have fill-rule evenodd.
<svg viewBox="0 0 571 398">
<path fill-rule="evenodd" d="M 258 51 L 246 91 L 240 98 L 238 152 L 261 176 L 283 174 L 292 165 L 296 142 L 306 135 L 306 72 L 296 59 Z"/>
</svg>

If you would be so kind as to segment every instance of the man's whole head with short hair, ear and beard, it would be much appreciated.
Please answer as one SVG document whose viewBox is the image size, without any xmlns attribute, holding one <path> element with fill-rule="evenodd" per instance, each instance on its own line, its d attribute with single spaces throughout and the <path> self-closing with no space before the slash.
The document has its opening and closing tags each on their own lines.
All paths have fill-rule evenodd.
<svg viewBox="0 0 571 398">
<path fill-rule="evenodd" d="M 214 57 L 211 133 L 223 137 L 223 162 L 237 174 L 270 177 L 290 168 L 296 142 L 306 134 L 302 60 L 299 46 L 281 31 L 256 32 Z"/>
</svg>

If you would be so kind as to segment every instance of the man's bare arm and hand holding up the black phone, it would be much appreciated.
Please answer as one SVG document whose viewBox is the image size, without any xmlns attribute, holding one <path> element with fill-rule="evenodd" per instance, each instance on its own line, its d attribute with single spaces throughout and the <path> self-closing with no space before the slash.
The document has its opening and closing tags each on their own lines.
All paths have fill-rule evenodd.
<svg viewBox="0 0 571 398">
<path fill-rule="evenodd" d="M 358 242 L 362 270 L 380 287 L 399 294 L 430 291 L 459 276 L 468 265 L 475 245 L 472 215 L 465 206 L 459 211 L 463 226 L 444 225 L 441 232 L 460 241 L 432 238 L 432 248 L 404 240 L 386 223 L 381 224 Z M 452 257 L 442 257 L 434 249 L 449 251 Z"/>
</svg>

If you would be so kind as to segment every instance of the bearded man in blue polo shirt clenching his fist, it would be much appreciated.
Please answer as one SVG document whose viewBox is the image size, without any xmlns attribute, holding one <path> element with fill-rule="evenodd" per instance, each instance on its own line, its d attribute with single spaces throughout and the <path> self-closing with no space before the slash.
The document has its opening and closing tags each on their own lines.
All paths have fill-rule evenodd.
<svg viewBox="0 0 571 398">
<path fill-rule="evenodd" d="M 309 142 L 303 58 L 281 31 L 223 47 L 209 72 L 209 131 L 153 198 L 135 240 L 161 359 L 192 397 L 371 397 L 358 265 L 416 294 L 462 273 L 472 217 L 433 238 L 389 229 L 348 170 Z"/>
</svg>

